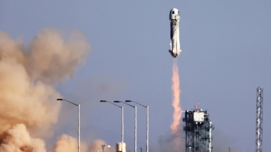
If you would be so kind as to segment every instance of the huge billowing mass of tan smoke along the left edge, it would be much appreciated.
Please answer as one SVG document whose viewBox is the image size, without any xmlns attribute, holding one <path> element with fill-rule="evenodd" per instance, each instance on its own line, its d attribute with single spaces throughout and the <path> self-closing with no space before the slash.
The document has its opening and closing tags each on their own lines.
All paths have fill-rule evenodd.
<svg viewBox="0 0 271 152">
<path fill-rule="evenodd" d="M 61 108 L 54 86 L 71 78 L 89 50 L 78 30 L 66 38 L 47 28 L 27 47 L 0 31 L 0 152 L 46 151 L 42 138 L 53 135 Z"/>
</svg>

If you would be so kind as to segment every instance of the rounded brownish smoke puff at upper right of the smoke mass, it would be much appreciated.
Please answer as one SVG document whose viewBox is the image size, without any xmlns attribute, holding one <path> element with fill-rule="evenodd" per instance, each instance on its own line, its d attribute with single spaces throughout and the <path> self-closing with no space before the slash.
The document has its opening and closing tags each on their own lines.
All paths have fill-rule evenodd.
<svg viewBox="0 0 271 152">
<path fill-rule="evenodd" d="M 31 43 L 29 72 L 33 78 L 49 83 L 70 78 L 84 62 L 89 48 L 78 30 L 65 40 L 56 30 L 44 29 Z"/>
</svg>

